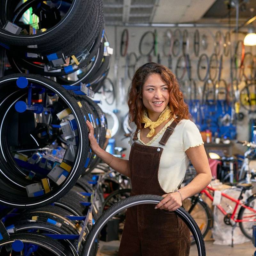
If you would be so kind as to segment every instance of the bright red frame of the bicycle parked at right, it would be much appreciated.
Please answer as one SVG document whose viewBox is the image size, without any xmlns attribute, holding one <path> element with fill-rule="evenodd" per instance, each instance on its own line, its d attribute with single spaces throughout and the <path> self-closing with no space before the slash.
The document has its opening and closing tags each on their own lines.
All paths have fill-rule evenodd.
<svg viewBox="0 0 256 256">
<path fill-rule="evenodd" d="M 209 189 L 209 190 L 211 190 L 211 191 L 217 190 L 217 189 L 211 188 L 211 187 L 209 187 L 209 186 L 207 186 L 206 188 Z M 209 193 L 209 191 L 207 191 L 205 188 L 200 192 L 200 194 L 203 194 L 203 193 L 213 201 L 213 196 L 212 196 L 212 195 Z M 229 200 L 231 200 L 232 202 L 235 202 L 235 203 L 236 203 L 236 206 L 235 206 L 235 208 L 234 208 L 234 210 L 233 210 L 233 212 L 232 212 L 232 215 L 231 215 L 231 217 L 230 217 L 231 220 L 234 220 L 235 222 L 256 221 L 256 219 L 255 219 L 255 217 L 256 217 L 256 210 L 254 210 L 253 208 L 251 208 L 251 207 L 249 207 L 249 206 L 246 206 L 246 205 L 244 205 L 243 203 L 241 203 L 241 202 L 240 202 L 240 201 L 241 201 L 240 199 L 237 200 L 237 199 L 235 199 L 235 198 L 233 198 L 233 197 L 231 197 L 231 196 L 228 196 L 228 195 L 225 194 L 225 193 L 221 193 L 221 196 L 224 196 L 224 197 L 228 198 Z M 249 215 L 249 216 L 246 216 L 246 218 L 244 218 L 243 220 L 237 220 L 237 219 L 235 219 L 235 214 L 236 214 L 238 205 L 241 205 L 241 207 L 246 208 L 247 210 L 251 211 L 251 212 L 254 213 L 254 214 Z M 219 209 L 224 215 L 227 215 L 227 214 L 228 214 L 228 213 L 222 208 L 222 206 L 221 206 L 220 204 L 219 204 L 219 205 L 216 205 L 216 206 L 218 207 L 218 209 Z M 254 219 L 251 219 L 251 218 L 253 218 L 253 217 L 254 217 Z"/>
</svg>

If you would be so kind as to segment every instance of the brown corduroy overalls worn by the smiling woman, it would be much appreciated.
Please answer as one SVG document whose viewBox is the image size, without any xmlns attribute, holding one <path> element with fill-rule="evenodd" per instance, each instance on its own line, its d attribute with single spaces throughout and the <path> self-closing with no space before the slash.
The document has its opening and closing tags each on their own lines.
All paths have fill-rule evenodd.
<svg viewBox="0 0 256 256">
<path fill-rule="evenodd" d="M 168 126 L 159 144 L 166 145 L 177 123 Z M 133 140 L 137 140 L 138 129 Z M 163 148 L 134 143 L 129 156 L 132 192 L 136 195 L 167 194 L 158 181 Z M 174 212 L 141 204 L 127 209 L 118 256 L 187 256 L 190 234 L 187 225 Z"/>
</svg>

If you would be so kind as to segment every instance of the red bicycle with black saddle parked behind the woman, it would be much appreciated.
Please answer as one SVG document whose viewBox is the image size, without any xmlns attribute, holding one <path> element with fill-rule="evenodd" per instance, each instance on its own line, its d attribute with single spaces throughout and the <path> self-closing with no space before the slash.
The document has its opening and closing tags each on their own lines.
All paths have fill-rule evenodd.
<svg viewBox="0 0 256 256">
<path fill-rule="evenodd" d="M 252 189 L 252 187 L 252 184 L 237 184 L 236 188 L 241 189 L 241 193 L 238 199 L 221 192 L 221 197 L 226 197 L 235 203 L 235 207 L 232 209 L 232 212 L 225 211 L 221 204 L 216 205 L 216 207 L 224 215 L 225 224 L 235 226 L 237 223 L 239 223 L 244 236 L 250 239 L 252 239 L 252 226 L 256 222 L 256 194 L 250 196 L 244 203 L 241 202 L 241 200 L 243 199 L 245 191 Z M 196 196 L 192 196 L 183 201 L 184 208 L 196 221 L 203 234 L 203 237 L 207 234 L 209 228 L 212 225 L 213 214 L 201 196 L 202 194 L 205 194 L 211 201 L 213 201 L 213 194 L 216 190 L 217 189 L 207 186 Z M 241 208 L 238 214 L 236 214 L 239 205 Z M 191 236 L 191 243 L 194 243 L 193 236 Z"/>
</svg>

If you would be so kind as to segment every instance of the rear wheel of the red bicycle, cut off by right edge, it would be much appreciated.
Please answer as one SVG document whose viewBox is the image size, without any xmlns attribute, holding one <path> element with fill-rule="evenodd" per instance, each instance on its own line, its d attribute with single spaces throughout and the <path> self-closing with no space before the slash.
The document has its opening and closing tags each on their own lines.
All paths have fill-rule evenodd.
<svg viewBox="0 0 256 256">
<path fill-rule="evenodd" d="M 245 205 L 253 208 L 254 211 L 255 211 L 256 210 L 256 196 L 255 195 L 250 196 L 246 200 Z M 238 220 L 256 219 L 256 213 L 252 212 L 250 210 L 247 210 L 244 207 L 241 207 L 239 212 L 238 212 L 237 219 Z M 254 221 L 239 222 L 239 226 L 241 228 L 241 231 L 243 232 L 244 236 L 248 237 L 249 239 L 252 239 L 252 226 L 254 224 L 255 224 Z"/>
</svg>

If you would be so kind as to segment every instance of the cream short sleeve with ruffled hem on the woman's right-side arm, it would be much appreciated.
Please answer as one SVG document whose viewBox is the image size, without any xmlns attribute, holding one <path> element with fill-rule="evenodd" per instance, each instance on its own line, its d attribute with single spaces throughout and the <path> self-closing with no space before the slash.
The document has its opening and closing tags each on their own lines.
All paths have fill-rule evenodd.
<svg viewBox="0 0 256 256">
<path fill-rule="evenodd" d="M 196 124 L 187 120 L 183 128 L 183 150 L 198 147 L 204 144 L 202 136 L 196 127 Z"/>
</svg>

